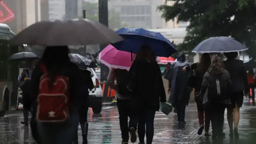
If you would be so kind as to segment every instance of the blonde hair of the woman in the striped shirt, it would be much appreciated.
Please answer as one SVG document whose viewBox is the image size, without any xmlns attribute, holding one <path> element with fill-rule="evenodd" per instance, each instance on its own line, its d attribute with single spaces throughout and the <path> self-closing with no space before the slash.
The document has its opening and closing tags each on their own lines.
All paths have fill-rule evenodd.
<svg viewBox="0 0 256 144">
<path fill-rule="evenodd" d="M 219 56 L 215 56 L 212 59 L 212 64 L 210 65 L 208 72 L 216 70 L 217 72 L 223 72 L 225 70 L 225 65 L 223 60 Z"/>
</svg>

